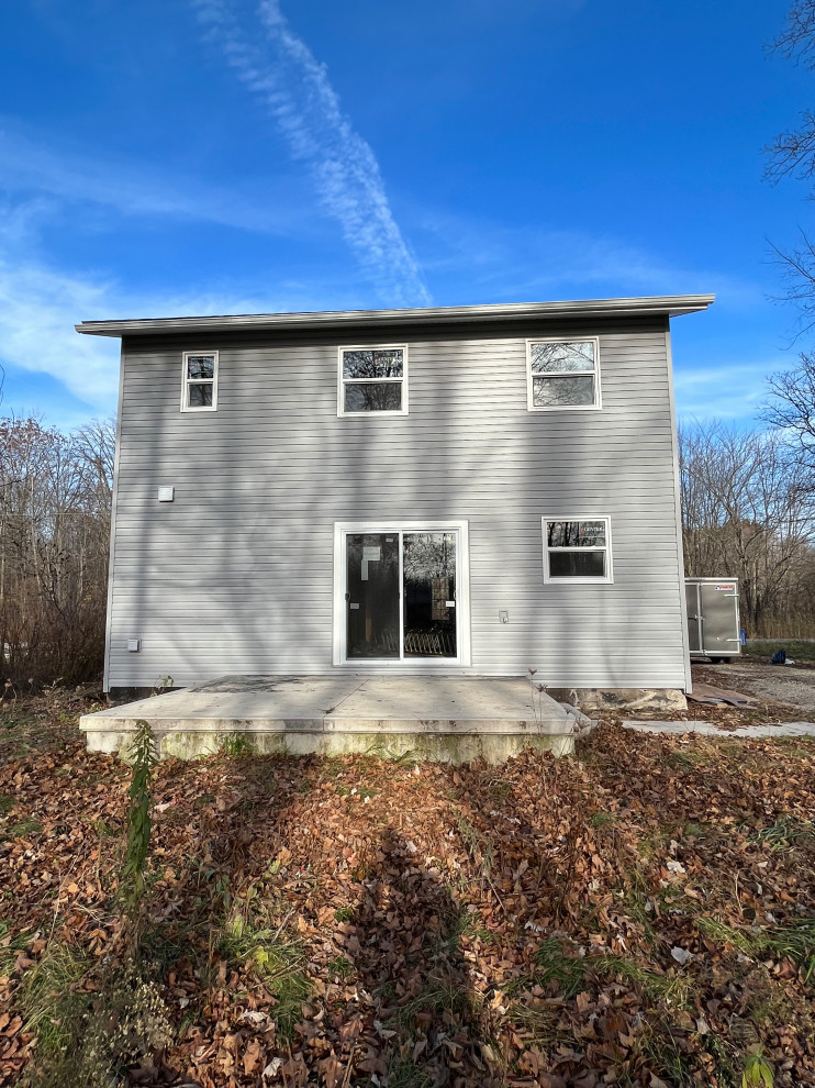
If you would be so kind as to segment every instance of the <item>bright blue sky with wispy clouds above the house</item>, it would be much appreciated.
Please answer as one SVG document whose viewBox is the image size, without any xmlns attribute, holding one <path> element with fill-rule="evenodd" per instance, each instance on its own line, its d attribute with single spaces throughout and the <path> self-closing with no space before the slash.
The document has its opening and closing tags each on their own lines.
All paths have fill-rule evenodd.
<svg viewBox="0 0 815 1088">
<path fill-rule="evenodd" d="M 81 320 L 713 291 L 679 409 L 748 425 L 806 346 L 769 241 L 812 204 L 762 180 L 813 104 L 786 8 L 3 4 L 1 410 L 114 410 Z"/>
</svg>

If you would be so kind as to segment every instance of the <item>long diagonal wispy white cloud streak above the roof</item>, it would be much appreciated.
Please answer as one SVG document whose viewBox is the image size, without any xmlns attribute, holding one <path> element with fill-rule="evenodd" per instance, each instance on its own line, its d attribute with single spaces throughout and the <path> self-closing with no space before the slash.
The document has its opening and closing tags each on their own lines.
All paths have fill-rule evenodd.
<svg viewBox="0 0 815 1088">
<path fill-rule="evenodd" d="M 379 164 L 343 113 L 325 65 L 292 31 L 277 0 L 263 0 L 256 27 L 244 27 L 230 0 L 192 0 L 206 38 L 263 102 L 289 144 L 306 163 L 325 211 L 371 276 L 382 301 L 429 301 L 417 262 L 393 218 Z"/>
</svg>

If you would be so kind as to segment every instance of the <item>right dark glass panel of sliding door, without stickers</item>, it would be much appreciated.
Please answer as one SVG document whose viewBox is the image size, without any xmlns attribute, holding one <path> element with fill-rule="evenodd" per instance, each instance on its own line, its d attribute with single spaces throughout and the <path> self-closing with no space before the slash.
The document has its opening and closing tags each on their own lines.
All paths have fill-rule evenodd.
<svg viewBox="0 0 815 1088">
<path fill-rule="evenodd" d="M 456 534 L 403 540 L 404 656 L 456 657 Z"/>
</svg>

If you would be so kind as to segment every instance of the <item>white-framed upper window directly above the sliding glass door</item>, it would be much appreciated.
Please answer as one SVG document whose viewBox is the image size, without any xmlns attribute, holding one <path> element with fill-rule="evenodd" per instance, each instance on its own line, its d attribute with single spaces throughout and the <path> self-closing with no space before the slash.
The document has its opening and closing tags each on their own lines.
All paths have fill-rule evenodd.
<svg viewBox="0 0 815 1088">
<path fill-rule="evenodd" d="M 408 414 L 408 348 L 340 347 L 338 415 Z"/>
</svg>

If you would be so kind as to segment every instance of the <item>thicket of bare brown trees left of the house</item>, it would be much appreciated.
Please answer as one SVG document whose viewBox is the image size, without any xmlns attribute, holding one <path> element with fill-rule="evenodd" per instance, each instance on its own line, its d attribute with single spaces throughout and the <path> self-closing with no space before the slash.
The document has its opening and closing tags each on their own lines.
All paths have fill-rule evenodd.
<svg viewBox="0 0 815 1088">
<path fill-rule="evenodd" d="M 0 665 L 15 685 L 99 671 L 113 443 L 112 421 L 0 420 Z"/>
</svg>

